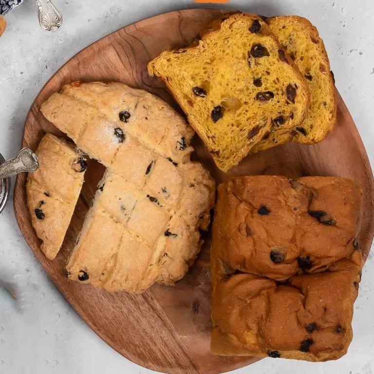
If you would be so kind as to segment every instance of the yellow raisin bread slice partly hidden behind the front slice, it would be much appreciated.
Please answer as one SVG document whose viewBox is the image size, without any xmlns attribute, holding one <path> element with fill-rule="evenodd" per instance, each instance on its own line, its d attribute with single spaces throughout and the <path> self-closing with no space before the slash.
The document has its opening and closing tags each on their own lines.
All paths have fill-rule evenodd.
<svg viewBox="0 0 374 374">
<path fill-rule="evenodd" d="M 323 41 L 316 27 L 299 16 L 273 17 L 267 23 L 306 78 L 311 103 L 308 115 L 300 126 L 292 131 L 271 132 L 253 151 L 265 150 L 291 139 L 301 144 L 318 143 L 334 130 L 337 120 L 334 75 L 330 71 Z"/>
</svg>

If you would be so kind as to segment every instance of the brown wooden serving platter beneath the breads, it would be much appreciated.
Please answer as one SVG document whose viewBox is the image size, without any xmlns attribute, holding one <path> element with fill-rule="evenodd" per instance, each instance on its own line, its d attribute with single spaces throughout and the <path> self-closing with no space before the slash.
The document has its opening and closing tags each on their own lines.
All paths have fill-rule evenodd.
<svg viewBox="0 0 374 374">
<path fill-rule="evenodd" d="M 126 26 L 87 47 L 69 60 L 44 86 L 26 118 L 22 147 L 36 150 L 45 132 L 63 136 L 39 111 L 62 85 L 80 80 L 118 81 L 159 95 L 176 110 L 180 108 L 164 83 L 147 74 L 147 63 L 167 47 L 186 45 L 220 10 L 194 9 L 171 12 Z M 337 128 L 314 146 L 289 143 L 247 156 L 227 174 L 218 170 L 204 144 L 195 135 L 195 157 L 220 183 L 228 175 L 334 175 L 362 183 L 364 197 L 359 241 L 366 259 L 373 240 L 374 183 L 370 163 L 346 106 L 338 95 Z M 255 362 L 253 357 L 220 357 L 210 353 L 210 232 L 187 275 L 173 287 L 153 285 L 142 295 L 108 293 L 68 281 L 65 263 L 77 232 L 91 204 L 104 168 L 95 161 L 86 173 L 81 196 L 61 251 L 54 261 L 41 253 L 26 204 L 26 175 L 17 178 L 14 208 L 20 230 L 35 256 L 93 331 L 131 361 L 167 373 L 224 373 Z"/>
</svg>

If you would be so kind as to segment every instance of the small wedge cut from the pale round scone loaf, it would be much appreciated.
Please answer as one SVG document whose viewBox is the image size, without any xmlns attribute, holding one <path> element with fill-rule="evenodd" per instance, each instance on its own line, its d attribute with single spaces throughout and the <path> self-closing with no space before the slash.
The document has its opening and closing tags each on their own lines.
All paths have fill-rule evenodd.
<svg viewBox="0 0 374 374">
<path fill-rule="evenodd" d="M 27 205 L 43 241 L 40 249 L 53 260 L 73 216 L 87 162 L 72 144 L 51 134 L 43 137 L 35 153 L 39 168 L 27 178 Z"/>
</svg>

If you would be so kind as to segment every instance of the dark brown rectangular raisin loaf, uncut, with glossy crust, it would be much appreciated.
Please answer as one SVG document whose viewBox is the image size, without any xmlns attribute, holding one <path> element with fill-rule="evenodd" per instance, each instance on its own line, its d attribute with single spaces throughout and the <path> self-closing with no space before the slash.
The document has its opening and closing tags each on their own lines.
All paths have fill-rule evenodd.
<svg viewBox="0 0 374 374">
<path fill-rule="evenodd" d="M 218 187 L 211 350 L 337 359 L 352 340 L 362 190 L 337 177 L 255 176 Z"/>
</svg>

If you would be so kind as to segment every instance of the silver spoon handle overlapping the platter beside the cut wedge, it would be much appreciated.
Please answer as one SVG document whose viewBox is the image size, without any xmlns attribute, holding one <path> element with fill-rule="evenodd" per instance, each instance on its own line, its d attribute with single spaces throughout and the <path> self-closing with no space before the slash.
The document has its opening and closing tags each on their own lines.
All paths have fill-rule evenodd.
<svg viewBox="0 0 374 374">
<path fill-rule="evenodd" d="M 22 171 L 35 171 L 39 168 L 37 155 L 29 148 L 22 148 L 19 154 L 0 165 L 0 178 L 7 178 Z"/>
</svg>

